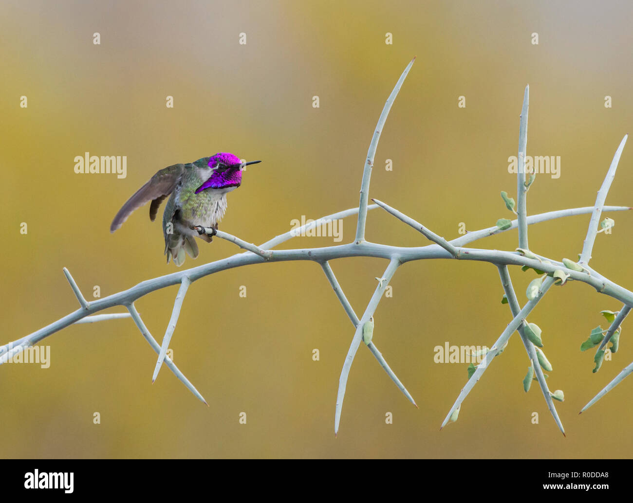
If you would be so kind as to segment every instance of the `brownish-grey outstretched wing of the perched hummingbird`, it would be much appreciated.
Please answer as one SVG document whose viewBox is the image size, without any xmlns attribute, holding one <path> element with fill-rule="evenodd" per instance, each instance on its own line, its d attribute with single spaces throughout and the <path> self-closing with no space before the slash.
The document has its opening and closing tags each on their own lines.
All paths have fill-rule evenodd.
<svg viewBox="0 0 633 503">
<path fill-rule="evenodd" d="M 149 218 L 154 221 L 156 213 L 158 213 L 158 206 L 160 206 L 165 197 L 172 193 L 184 170 L 184 164 L 176 164 L 158 171 L 156 175 L 149 179 L 149 182 L 137 190 L 134 196 L 123 204 L 123 207 L 118 211 L 110 225 L 110 232 L 115 232 L 116 229 L 121 227 L 132 211 L 141 208 L 147 201 L 152 202 L 149 206 Z"/>
</svg>

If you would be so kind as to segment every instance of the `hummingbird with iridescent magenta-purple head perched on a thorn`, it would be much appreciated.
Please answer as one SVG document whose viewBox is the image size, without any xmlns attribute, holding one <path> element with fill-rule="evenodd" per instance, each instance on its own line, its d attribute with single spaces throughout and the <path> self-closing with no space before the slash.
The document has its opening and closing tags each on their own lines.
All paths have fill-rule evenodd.
<svg viewBox="0 0 633 503">
<path fill-rule="evenodd" d="M 181 266 L 185 252 L 191 258 L 198 256 L 194 238 L 208 243 L 213 239 L 199 233 L 195 227 L 217 230 L 227 211 L 227 193 L 241 185 L 242 168 L 257 163 L 261 161 L 242 163 L 234 154 L 218 152 L 192 163 L 167 166 L 157 171 L 123 204 L 110 225 L 110 232 L 115 232 L 132 211 L 149 201 L 149 220 L 154 221 L 161 202 L 171 194 L 163 211 L 165 254 L 167 263 L 173 259 L 173 263 Z"/>
</svg>

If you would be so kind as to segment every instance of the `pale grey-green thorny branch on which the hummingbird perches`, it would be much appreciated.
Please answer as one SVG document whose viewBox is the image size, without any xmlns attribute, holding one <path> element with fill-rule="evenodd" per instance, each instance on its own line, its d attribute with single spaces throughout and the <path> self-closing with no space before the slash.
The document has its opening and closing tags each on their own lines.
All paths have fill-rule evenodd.
<svg viewBox="0 0 633 503">
<path fill-rule="evenodd" d="M 536 374 L 536 380 L 539 382 L 539 386 L 541 387 L 546 403 L 548 404 L 549 411 L 551 411 L 556 424 L 560 428 L 561 432 L 563 432 L 564 434 L 563 425 L 561 424 L 560 418 L 558 418 L 558 413 L 556 413 L 556 408 L 552 401 L 552 397 L 561 400 L 561 394 L 559 395 L 558 391 L 555 393 L 551 393 L 549 391 L 549 388 L 545 382 L 545 376 L 543 375 L 541 370 L 541 366 L 545 366 L 542 360 L 543 358 L 545 358 L 545 356 L 541 349 L 537 347 L 537 345 L 542 346 L 542 343 L 539 336 L 534 338 L 534 324 L 527 323 L 526 318 L 527 315 L 532 311 L 532 309 L 536 307 L 536 304 L 541 301 L 542 297 L 544 297 L 550 287 L 567 280 L 575 280 L 587 283 L 588 285 L 594 287 L 597 292 L 613 297 L 614 299 L 618 299 L 624 304 L 613 323 L 611 323 L 609 330 L 606 331 L 606 336 L 601 340 L 601 345 L 598 348 L 598 351 L 601 351 L 603 349 L 605 344 L 613 337 L 615 333 L 618 333 L 619 335 L 620 332 L 618 330 L 621 330 L 620 324 L 627 316 L 630 309 L 633 307 L 633 292 L 630 292 L 629 290 L 621 287 L 617 283 L 611 282 L 604 276 L 600 275 L 598 272 L 589 268 L 588 263 L 589 259 L 591 258 L 591 251 L 596 239 L 596 233 L 598 233 L 598 225 L 601 213 L 603 211 L 624 211 L 632 209 L 628 206 L 605 206 L 606 195 L 611 182 L 613 181 L 613 177 L 615 177 L 615 171 L 617 169 L 622 150 L 624 149 L 624 144 L 627 140 L 627 136 L 624 137 L 615 153 L 615 156 L 613 157 L 613 161 L 611 162 L 611 166 L 605 177 L 605 182 L 603 182 L 603 185 L 598 192 L 598 197 L 594 206 L 562 209 L 558 211 L 550 211 L 548 213 L 528 216 L 526 211 L 527 191 L 530 185 L 532 185 L 532 183 L 534 182 L 536 171 L 532 171 L 532 173 L 530 173 L 529 180 L 525 179 L 525 151 L 527 148 L 527 117 L 529 109 L 529 87 L 526 87 L 525 94 L 523 96 L 523 108 L 520 116 L 519 129 L 517 220 L 513 220 L 511 222 L 506 221 L 504 225 L 495 225 L 475 232 L 468 232 L 466 235 L 447 241 L 443 237 L 424 227 L 421 223 L 413 220 L 413 218 L 406 216 L 405 214 L 401 213 L 395 208 L 392 208 L 391 206 L 388 206 L 382 201 L 373 200 L 377 204 L 368 206 L 368 193 L 373 159 L 375 156 L 376 148 L 378 146 L 380 133 L 382 132 L 382 128 L 384 127 L 385 120 L 387 119 L 387 115 L 389 114 L 389 110 L 391 109 L 394 99 L 398 95 L 398 91 L 403 85 L 404 79 L 406 78 L 406 75 L 411 69 L 414 61 L 415 58 L 413 58 L 409 65 L 406 66 L 401 77 L 396 83 L 394 90 L 389 96 L 389 99 L 387 99 L 387 102 L 385 102 L 385 106 L 380 115 L 378 124 L 373 132 L 372 141 L 370 143 L 370 147 L 367 152 L 367 158 L 365 159 L 365 166 L 363 168 L 363 178 L 361 181 L 360 202 L 358 208 L 351 208 L 345 211 L 331 214 L 329 216 L 325 216 L 323 218 L 320 218 L 319 220 L 304 225 L 299 229 L 294 229 L 282 235 L 279 235 L 260 246 L 253 245 L 226 232 L 221 232 L 211 228 L 199 228 L 198 232 L 217 235 L 222 239 L 229 240 L 239 247 L 246 249 L 246 252 L 235 254 L 233 256 L 230 256 L 229 258 L 225 258 L 215 262 L 203 264 L 189 270 L 178 271 L 165 276 L 160 276 L 158 278 L 153 278 L 151 280 L 146 280 L 144 282 L 138 283 L 128 290 L 123 290 L 122 292 L 108 295 L 108 297 L 97 299 L 96 301 L 89 302 L 85 300 L 72 275 L 70 275 L 70 272 L 68 272 L 68 270 L 64 268 L 63 272 L 66 275 L 68 282 L 70 283 L 70 287 L 73 290 L 73 293 L 77 297 L 80 308 L 77 309 L 77 311 L 73 311 L 72 313 L 67 314 L 63 318 L 60 318 L 60 320 L 54 321 L 50 325 L 41 328 L 40 330 L 30 333 L 29 335 L 19 338 L 18 340 L 10 342 L 4 346 L 0 346 L 0 364 L 6 363 L 7 361 L 9 361 L 9 359 L 13 358 L 13 356 L 23 351 L 25 348 L 37 344 L 37 342 L 41 341 L 43 338 L 48 337 L 49 335 L 58 332 L 66 326 L 72 325 L 73 323 L 94 323 L 97 321 L 128 318 L 131 316 L 132 320 L 139 328 L 142 336 L 146 338 L 147 342 L 159 355 L 158 361 L 156 362 L 156 368 L 154 369 L 153 379 L 155 379 L 156 375 L 158 375 L 158 371 L 164 361 L 166 366 L 182 383 L 184 383 L 187 388 L 189 388 L 189 390 L 191 390 L 191 392 L 197 397 L 197 399 L 206 404 L 206 401 L 204 400 L 202 395 L 199 394 L 199 392 L 191 384 L 191 382 L 189 382 L 189 380 L 185 378 L 185 376 L 182 374 L 182 372 L 180 372 L 177 366 L 173 364 L 170 358 L 166 356 L 169 342 L 179 317 L 180 307 L 182 306 L 182 302 L 184 301 L 185 293 L 187 292 L 187 288 L 189 287 L 189 285 L 192 282 L 203 278 L 204 276 L 211 275 L 218 271 L 241 267 L 247 264 L 262 264 L 280 261 L 312 261 L 321 266 L 327 280 L 332 286 L 332 289 L 334 289 L 339 302 L 341 302 L 342 307 L 344 308 L 344 310 L 348 314 L 349 319 L 354 325 L 354 337 L 349 347 L 349 351 L 341 371 L 341 376 L 339 378 L 339 390 L 337 393 L 334 420 L 334 431 L 335 433 L 338 433 L 339 423 L 341 420 L 342 403 L 345 395 L 346 384 L 348 382 L 349 371 L 351 369 L 351 364 L 353 363 L 356 351 L 358 350 L 358 347 L 360 347 L 360 343 L 363 340 L 363 327 L 365 327 L 366 323 L 368 323 L 368 321 L 370 320 L 372 320 L 373 323 L 373 316 L 380 302 L 380 299 L 382 299 L 382 295 L 384 294 L 387 285 L 389 285 L 389 281 L 394 276 L 399 266 L 408 261 L 424 259 L 458 259 L 485 261 L 494 264 L 498 268 L 499 276 L 501 278 L 501 284 L 505 291 L 505 297 L 511 309 L 513 320 L 508 326 L 506 326 L 505 330 L 503 330 L 498 340 L 486 353 L 486 355 L 484 356 L 484 360 L 479 364 L 479 366 L 477 366 L 476 369 L 473 370 L 473 373 L 472 375 L 470 375 L 467 384 L 461 390 L 461 393 L 458 396 L 457 400 L 454 402 L 453 407 L 451 407 L 451 409 L 449 410 L 446 419 L 444 419 L 442 427 L 446 425 L 449 421 L 456 420 L 457 414 L 461 409 L 461 404 L 463 400 L 466 398 L 470 390 L 472 390 L 475 383 L 477 383 L 480 376 L 484 373 L 489 364 L 491 364 L 492 359 L 498 356 L 498 354 L 503 351 L 503 349 L 505 349 L 506 344 L 508 344 L 508 339 L 510 338 L 512 333 L 518 331 L 523 345 L 525 346 L 525 350 L 527 352 L 530 363 L 529 374 L 528 376 L 526 376 L 526 380 L 524 380 L 524 385 L 525 383 L 530 382 L 531 378 L 528 379 L 528 377 L 530 376 L 530 372 L 533 371 L 533 373 Z M 396 216 L 396 218 L 403 221 L 407 225 L 410 225 L 411 227 L 418 230 L 418 232 L 422 233 L 434 244 L 429 244 L 423 247 L 395 247 L 391 245 L 367 242 L 365 240 L 365 223 L 367 221 L 367 211 L 368 209 L 374 209 L 378 206 L 385 209 L 385 211 L 392 214 L 393 216 Z M 588 213 L 591 213 L 591 221 L 589 223 L 589 229 L 587 230 L 587 237 L 584 240 L 579 263 L 573 263 L 573 261 L 570 261 L 568 259 L 563 259 L 563 261 L 556 261 L 553 259 L 544 258 L 542 256 L 534 254 L 534 252 L 529 250 L 527 240 L 527 228 L 529 225 L 533 225 L 534 223 L 539 223 L 546 220 L 553 220 L 566 216 Z M 346 216 L 350 216 L 353 214 L 358 214 L 358 224 L 356 227 L 356 235 L 354 237 L 354 241 L 349 244 L 310 249 L 290 249 L 275 251 L 271 250 L 273 247 L 282 244 L 283 242 L 291 239 L 292 237 L 295 237 L 296 235 L 300 235 L 305 230 L 310 230 L 310 228 L 321 225 L 323 222 L 345 218 Z M 473 249 L 465 247 L 466 244 L 475 240 L 489 237 L 491 235 L 496 235 L 501 232 L 506 232 L 514 228 L 518 228 L 519 236 L 519 247 L 516 252 Z M 334 272 L 332 271 L 332 268 L 329 264 L 329 261 L 331 260 L 346 257 L 374 257 L 389 260 L 389 265 L 380 278 L 375 292 L 368 302 L 367 307 L 365 308 L 363 316 L 360 318 L 360 320 L 358 319 L 358 316 L 356 316 L 356 313 L 354 312 L 351 304 L 349 304 L 349 301 L 345 296 L 341 285 L 339 285 L 339 282 L 334 276 Z M 543 278 L 541 278 L 541 280 L 536 280 L 537 283 L 535 283 L 535 288 L 529 295 L 528 302 L 527 304 L 525 304 L 525 306 L 523 306 L 523 308 L 521 308 L 518 304 L 517 295 L 515 294 L 515 291 L 512 287 L 510 274 L 508 273 L 507 267 L 509 265 L 518 265 L 523 266 L 523 268 L 532 268 L 534 270 L 541 271 L 542 274 L 548 276 L 543 276 L 544 280 Z M 141 319 L 141 315 L 134 307 L 134 302 L 140 297 L 149 294 L 150 292 L 154 292 L 156 290 L 160 290 L 165 287 L 177 284 L 180 285 L 180 289 L 174 302 L 172 318 L 170 319 L 170 322 L 165 331 L 163 345 L 160 346 L 158 345 L 156 340 L 154 340 L 151 333 L 149 333 L 147 327 L 144 325 Z M 530 285 L 531 284 L 532 283 L 530 283 Z M 123 306 L 127 309 L 128 313 L 95 314 L 99 311 L 103 311 L 104 309 L 108 309 L 113 306 Z M 415 405 L 415 401 L 413 401 L 413 398 L 406 390 L 404 385 L 398 380 L 398 377 L 396 377 L 391 368 L 389 368 L 389 365 L 387 365 L 387 362 L 385 361 L 384 357 L 382 357 L 382 354 L 380 354 L 377 347 L 375 347 L 371 340 L 365 340 L 365 342 L 368 349 L 372 351 L 372 354 L 376 357 L 377 361 L 385 369 L 387 375 L 389 375 L 393 382 L 396 383 L 396 386 L 411 401 L 411 403 Z M 598 345 L 597 342 L 596 345 Z M 546 359 L 545 361 L 547 362 Z M 549 362 L 547 362 L 547 364 L 549 365 Z M 598 399 L 600 399 L 609 390 L 615 387 L 615 385 L 621 382 L 625 378 L 625 376 L 629 375 L 632 372 L 633 363 L 627 366 L 627 368 L 625 368 L 620 373 L 620 375 L 618 375 L 601 392 L 599 392 L 599 394 L 596 395 L 596 397 L 594 397 L 594 399 L 592 399 L 592 401 L 590 401 L 582 409 L 582 411 L 586 410 L 588 407 L 598 401 Z M 526 385 L 526 390 L 527 388 L 529 388 L 528 385 Z"/>
</svg>

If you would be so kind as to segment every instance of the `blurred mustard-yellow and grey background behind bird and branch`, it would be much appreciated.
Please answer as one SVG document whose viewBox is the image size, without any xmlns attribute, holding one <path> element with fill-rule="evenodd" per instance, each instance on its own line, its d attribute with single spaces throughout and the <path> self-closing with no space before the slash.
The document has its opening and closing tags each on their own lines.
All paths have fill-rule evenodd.
<svg viewBox="0 0 633 503">
<path fill-rule="evenodd" d="M 0 4 L 0 168 L 3 172 L 4 344 L 77 309 L 62 268 L 87 297 L 176 270 L 165 264 L 160 224 L 147 208 L 116 233 L 122 203 L 153 173 L 218 151 L 262 159 L 229 196 L 221 228 L 261 243 L 358 204 L 373 128 L 404 66 L 417 61 L 392 108 L 376 155 L 370 197 L 447 238 L 511 218 L 500 190 L 516 196 L 507 158 L 517 154 L 523 88 L 530 85 L 528 154 L 561 156 L 561 177 L 537 177 L 530 214 L 591 206 L 632 126 L 633 6 L 629 2 L 34 2 Z M 92 34 L 101 34 L 101 45 Z M 246 32 L 247 44 L 239 44 Z M 385 44 L 391 32 L 393 44 Z M 539 44 L 531 34 L 539 34 Z M 320 108 L 312 97 L 320 97 Z M 467 107 L 458 108 L 465 96 Z M 28 108 L 20 108 L 20 96 Z M 165 106 L 174 97 L 174 108 Z M 605 108 L 605 96 L 613 108 Z M 625 147 L 607 204 L 633 206 L 633 146 Z M 127 178 L 77 175 L 85 151 L 127 156 Z M 385 159 L 393 171 L 385 171 Z M 161 208 L 162 212 L 162 208 Z M 592 266 L 633 285 L 633 214 L 610 214 Z M 575 258 L 589 215 L 530 227 L 530 247 Z M 28 234 L 20 234 L 20 223 Z M 343 223 L 343 242 L 356 218 Z M 427 244 L 382 210 L 367 239 Z M 287 247 L 334 244 L 298 238 Z M 517 233 L 473 246 L 514 249 Z M 238 252 L 200 242 L 196 261 Z M 386 261 L 332 263 L 361 314 Z M 511 270 L 520 301 L 532 279 Z M 248 296 L 239 297 L 241 285 Z M 625 380 L 578 412 L 625 364 L 633 344 L 592 374 L 580 343 L 620 304 L 582 283 L 554 287 L 530 321 L 543 329 L 549 386 L 567 438 L 515 335 L 464 402 L 439 426 L 467 378 L 467 364 L 436 364 L 433 348 L 491 345 L 511 320 L 496 268 L 420 261 L 391 282 L 374 342 L 420 405 L 415 409 L 361 347 L 334 438 L 337 384 L 353 327 L 320 267 L 275 263 L 224 271 L 189 289 L 171 347 L 207 408 L 163 368 L 131 320 L 75 325 L 46 338 L 51 366 L 0 368 L 1 457 L 630 457 Z M 159 341 L 177 288 L 136 305 Z M 122 311 L 112 309 L 111 311 Z M 201 323 L 201 313 L 206 314 Z M 320 361 L 311 359 L 320 350 Z M 248 423 L 240 425 L 239 413 Z M 94 412 L 101 424 L 94 425 Z M 385 413 L 393 424 L 385 425 Z M 539 414 L 539 424 L 531 414 Z"/>
</svg>

